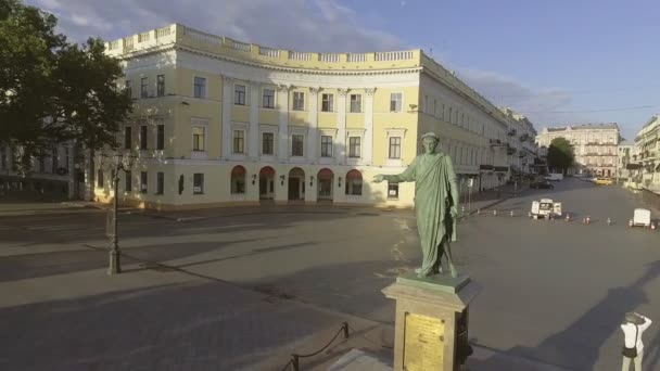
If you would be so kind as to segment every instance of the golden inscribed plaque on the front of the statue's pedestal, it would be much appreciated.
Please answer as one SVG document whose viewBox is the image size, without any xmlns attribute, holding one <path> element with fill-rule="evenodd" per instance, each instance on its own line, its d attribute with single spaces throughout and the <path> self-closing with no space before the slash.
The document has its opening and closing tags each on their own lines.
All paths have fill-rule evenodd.
<svg viewBox="0 0 660 371">
<path fill-rule="evenodd" d="M 404 370 L 443 369 L 445 324 L 440 318 L 406 314 Z"/>
</svg>

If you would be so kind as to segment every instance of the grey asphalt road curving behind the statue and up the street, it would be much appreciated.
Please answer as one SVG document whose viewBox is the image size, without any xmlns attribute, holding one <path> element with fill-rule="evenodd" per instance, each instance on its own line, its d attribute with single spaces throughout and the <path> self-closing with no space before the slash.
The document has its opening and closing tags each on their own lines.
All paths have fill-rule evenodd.
<svg viewBox="0 0 660 371">
<path fill-rule="evenodd" d="M 562 202 L 575 220 L 591 216 L 592 225 L 529 219 L 541 197 Z M 623 314 L 637 310 L 660 323 L 660 234 L 626 227 L 639 202 L 615 187 L 569 179 L 497 205 L 498 216 L 461 222 L 459 269 L 483 287 L 471 306 L 472 342 L 573 370 L 620 367 Z M 126 261 L 391 322 L 394 306 L 380 290 L 420 259 L 409 210 L 210 215 L 120 215 Z M 0 217 L 0 285 L 104 267 L 104 223 L 101 212 Z M 657 324 L 644 340 L 645 364 L 660 369 Z"/>
</svg>

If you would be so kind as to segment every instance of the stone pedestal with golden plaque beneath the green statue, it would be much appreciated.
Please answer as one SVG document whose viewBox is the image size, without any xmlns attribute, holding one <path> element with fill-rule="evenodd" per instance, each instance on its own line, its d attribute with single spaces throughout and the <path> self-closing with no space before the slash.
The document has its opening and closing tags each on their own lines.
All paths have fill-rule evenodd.
<svg viewBox="0 0 660 371">
<path fill-rule="evenodd" d="M 479 291 L 468 276 L 415 273 L 383 289 L 396 300 L 394 371 L 460 370 L 469 349 L 468 308 Z"/>
</svg>

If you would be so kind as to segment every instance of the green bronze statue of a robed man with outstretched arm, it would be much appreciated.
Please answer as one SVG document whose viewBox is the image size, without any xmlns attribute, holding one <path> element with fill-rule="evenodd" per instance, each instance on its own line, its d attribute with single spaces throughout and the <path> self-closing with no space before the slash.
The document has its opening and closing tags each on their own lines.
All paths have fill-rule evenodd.
<svg viewBox="0 0 660 371">
<path fill-rule="evenodd" d="M 376 183 L 415 181 L 415 209 L 422 251 L 418 277 L 442 273 L 442 256 L 447 257 L 452 277 L 458 270 L 452 260 L 450 242 L 456 241 L 456 217 L 458 215 L 458 187 L 452 158 L 436 151 L 440 139 L 434 132 L 422 136 L 424 153 L 418 155 L 399 175 L 379 174 Z"/>
</svg>

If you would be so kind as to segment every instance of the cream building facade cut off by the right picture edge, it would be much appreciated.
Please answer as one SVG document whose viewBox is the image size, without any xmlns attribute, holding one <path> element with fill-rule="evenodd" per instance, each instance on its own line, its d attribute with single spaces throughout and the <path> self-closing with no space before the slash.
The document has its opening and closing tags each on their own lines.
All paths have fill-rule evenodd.
<svg viewBox="0 0 660 371">
<path fill-rule="evenodd" d="M 653 115 L 637 132 L 633 150 L 633 180 L 643 188 L 660 191 L 660 116 Z M 629 166 L 630 167 L 630 166 Z"/>
</svg>

